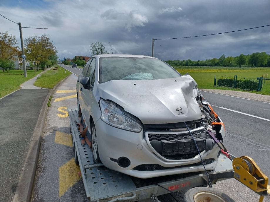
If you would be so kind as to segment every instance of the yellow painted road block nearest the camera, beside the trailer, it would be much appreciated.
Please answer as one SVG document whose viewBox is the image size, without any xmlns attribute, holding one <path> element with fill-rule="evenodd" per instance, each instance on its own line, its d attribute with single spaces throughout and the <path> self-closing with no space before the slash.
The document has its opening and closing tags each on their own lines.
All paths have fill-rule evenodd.
<svg viewBox="0 0 270 202">
<path fill-rule="evenodd" d="M 80 180 L 79 171 L 80 167 L 75 164 L 74 158 L 59 167 L 59 197 Z"/>
</svg>

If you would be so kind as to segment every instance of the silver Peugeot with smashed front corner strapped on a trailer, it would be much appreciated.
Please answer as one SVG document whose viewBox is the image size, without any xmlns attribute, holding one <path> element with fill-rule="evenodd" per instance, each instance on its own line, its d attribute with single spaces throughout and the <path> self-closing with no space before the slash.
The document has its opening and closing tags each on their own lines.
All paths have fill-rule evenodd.
<svg viewBox="0 0 270 202">
<path fill-rule="evenodd" d="M 94 163 L 138 178 L 216 167 L 224 124 L 188 74 L 154 57 L 105 54 L 77 81 Z"/>
</svg>

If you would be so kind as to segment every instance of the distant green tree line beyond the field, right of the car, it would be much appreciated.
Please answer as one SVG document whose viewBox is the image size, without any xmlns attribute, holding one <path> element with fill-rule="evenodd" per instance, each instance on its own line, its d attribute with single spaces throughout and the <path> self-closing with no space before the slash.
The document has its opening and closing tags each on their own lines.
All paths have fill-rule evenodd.
<svg viewBox="0 0 270 202">
<path fill-rule="evenodd" d="M 240 54 L 237 57 L 226 57 L 224 54 L 220 58 L 192 61 L 188 60 L 165 60 L 171 66 L 241 66 L 247 65 L 251 67 L 269 67 L 270 54 L 266 52 L 256 52 L 252 54 Z"/>
</svg>

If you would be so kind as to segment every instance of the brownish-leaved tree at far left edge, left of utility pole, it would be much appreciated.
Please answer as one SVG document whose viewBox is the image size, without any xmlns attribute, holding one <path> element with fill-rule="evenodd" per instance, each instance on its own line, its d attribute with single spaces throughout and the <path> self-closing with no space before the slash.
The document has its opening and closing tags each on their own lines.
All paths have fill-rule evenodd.
<svg viewBox="0 0 270 202">
<path fill-rule="evenodd" d="M 2 33 L 0 32 L 0 58 L 2 59 L 2 64 L 7 64 L 9 60 L 12 62 L 15 60 L 14 56 L 17 56 L 19 52 L 19 47 L 16 46 L 17 40 L 15 36 L 9 35 L 8 32 Z M 2 67 L 2 66 L 1 66 Z M 4 69 L 2 68 L 3 72 Z"/>
</svg>

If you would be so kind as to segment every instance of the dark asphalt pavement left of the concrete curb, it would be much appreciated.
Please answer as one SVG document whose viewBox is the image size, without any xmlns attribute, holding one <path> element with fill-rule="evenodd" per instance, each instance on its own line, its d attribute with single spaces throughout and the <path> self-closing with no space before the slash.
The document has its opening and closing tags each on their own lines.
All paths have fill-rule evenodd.
<svg viewBox="0 0 270 202">
<path fill-rule="evenodd" d="M 49 89 L 21 89 L 0 100 L 0 201 L 12 201 Z"/>
</svg>

